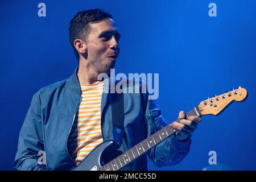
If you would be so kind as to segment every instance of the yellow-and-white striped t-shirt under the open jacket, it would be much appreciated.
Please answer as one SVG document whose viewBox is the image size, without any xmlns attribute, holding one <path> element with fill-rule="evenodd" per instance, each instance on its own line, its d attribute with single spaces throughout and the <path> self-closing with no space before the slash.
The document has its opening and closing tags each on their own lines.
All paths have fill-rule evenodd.
<svg viewBox="0 0 256 182">
<path fill-rule="evenodd" d="M 101 96 L 104 82 L 80 85 L 82 100 L 68 139 L 68 151 L 76 164 L 103 142 L 101 133 Z"/>
</svg>

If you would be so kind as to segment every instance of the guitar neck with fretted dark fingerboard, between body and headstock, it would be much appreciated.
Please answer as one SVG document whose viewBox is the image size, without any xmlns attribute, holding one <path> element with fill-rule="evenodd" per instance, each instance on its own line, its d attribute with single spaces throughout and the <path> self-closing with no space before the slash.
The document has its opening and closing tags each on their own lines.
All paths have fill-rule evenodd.
<svg viewBox="0 0 256 182">
<path fill-rule="evenodd" d="M 195 107 L 194 109 L 189 111 L 186 114 L 186 117 L 188 118 L 191 115 L 197 115 L 197 116 L 201 115 L 198 107 Z M 175 121 L 178 121 L 178 119 L 176 119 Z M 119 155 L 117 158 L 113 159 L 109 163 L 102 166 L 99 169 L 99 171 L 118 171 L 122 167 L 125 167 L 127 164 L 133 162 L 135 159 L 142 156 L 143 154 L 146 154 L 146 152 L 149 151 L 151 148 L 155 147 L 156 144 L 170 137 L 175 132 L 176 131 L 172 129 L 170 125 L 163 127 L 163 129 L 152 134 L 147 139 L 144 139 L 142 142 L 138 143 L 137 145 L 130 148 L 126 152 L 123 152 L 123 154 Z"/>
</svg>

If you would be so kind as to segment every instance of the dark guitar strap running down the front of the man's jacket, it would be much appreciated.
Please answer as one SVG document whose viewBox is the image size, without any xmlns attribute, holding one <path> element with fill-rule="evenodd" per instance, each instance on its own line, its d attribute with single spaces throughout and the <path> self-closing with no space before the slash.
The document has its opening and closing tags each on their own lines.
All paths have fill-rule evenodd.
<svg viewBox="0 0 256 182">
<path fill-rule="evenodd" d="M 118 147 L 120 147 L 123 140 L 123 122 L 125 119 L 123 93 L 111 93 L 110 101 L 112 106 L 113 137 Z"/>
</svg>

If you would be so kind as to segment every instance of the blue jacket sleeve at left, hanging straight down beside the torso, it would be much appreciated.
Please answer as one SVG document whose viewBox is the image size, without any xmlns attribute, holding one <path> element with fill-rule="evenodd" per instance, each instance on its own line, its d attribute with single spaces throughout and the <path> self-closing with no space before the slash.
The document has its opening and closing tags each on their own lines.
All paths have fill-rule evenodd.
<svg viewBox="0 0 256 182">
<path fill-rule="evenodd" d="M 18 151 L 14 166 L 18 170 L 46 170 L 39 164 L 39 151 L 44 151 L 39 92 L 32 97 L 31 105 L 19 133 Z"/>
</svg>

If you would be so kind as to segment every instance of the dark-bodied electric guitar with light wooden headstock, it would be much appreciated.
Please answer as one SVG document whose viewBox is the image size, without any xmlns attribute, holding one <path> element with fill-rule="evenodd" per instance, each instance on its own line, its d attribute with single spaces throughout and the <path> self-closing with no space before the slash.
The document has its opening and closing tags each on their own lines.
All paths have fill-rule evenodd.
<svg viewBox="0 0 256 182">
<path fill-rule="evenodd" d="M 217 115 L 225 109 L 232 101 L 242 101 L 247 97 L 247 91 L 244 88 L 239 87 L 233 89 L 230 92 L 220 94 L 201 101 L 197 107 L 194 107 L 186 114 L 186 117 L 196 115 L 201 117 L 202 115 L 213 114 Z M 176 120 L 178 121 L 178 120 Z M 117 171 L 127 164 L 133 162 L 143 154 L 146 154 L 156 144 L 162 142 L 164 139 L 170 137 L 176 131 L 171 128 L 170 124 L 163 129 L 152 134 L 147 139 L 138 143 L 134 147 L 130 148 L 126 152 L 123 152 L 117 158 L 110 159 L 110 162 L 105 162 L 106 156 L 111 156 L 112 151 L 117 149 L 114 140 L 108 140 L 99 144 L 86 158 L 79 164 L 79 166 L 73 168 L 73 171 Z"/>
</svg>

